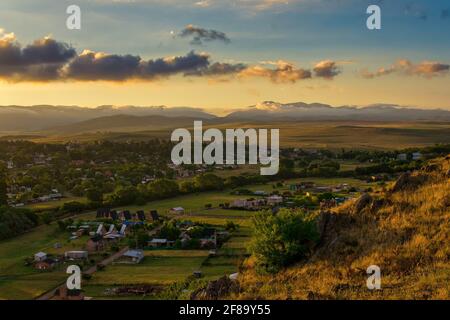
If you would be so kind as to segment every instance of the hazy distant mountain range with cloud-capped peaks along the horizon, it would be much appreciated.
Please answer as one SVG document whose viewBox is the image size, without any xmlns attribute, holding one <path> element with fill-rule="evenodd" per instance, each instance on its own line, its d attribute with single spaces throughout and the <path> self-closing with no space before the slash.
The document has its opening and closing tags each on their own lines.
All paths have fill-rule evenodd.
<svg viewBox="0 0 450 320">
<path fill-rule="evenodd" d="M 158 130 L 191 126 L 194 120 L 209 124 L 229 122 L 292 121 L 450 121 L 450 111 L 415 109 L 397 105 L 367 107 L 303 102 L 265 101 L 218 117 L 193 107 L 0 106 L 1 132 L 73 134 L 92 131 Z"/>
</svg>

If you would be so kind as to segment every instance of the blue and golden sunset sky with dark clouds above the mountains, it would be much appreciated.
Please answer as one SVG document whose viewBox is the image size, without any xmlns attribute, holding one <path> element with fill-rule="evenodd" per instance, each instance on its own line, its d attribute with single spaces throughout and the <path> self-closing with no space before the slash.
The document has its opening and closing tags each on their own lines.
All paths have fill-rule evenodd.
<svg viewBox="0 0 450 320">
<path fill-rule="evenodd" d="M 449 88 L 449 0 L 0 2 L 0 105 L 450 109 Z"/>
</svg>

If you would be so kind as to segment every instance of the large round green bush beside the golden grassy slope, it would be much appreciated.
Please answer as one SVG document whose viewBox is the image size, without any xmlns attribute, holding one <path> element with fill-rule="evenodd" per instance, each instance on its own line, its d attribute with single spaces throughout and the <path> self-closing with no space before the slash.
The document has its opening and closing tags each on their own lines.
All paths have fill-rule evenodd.
<svg viewBox="0 0 450 320">
<path fill-rule="evenodd" d="M 299 211 L 262 211 L 253 218 L 250 250 L 259 269 L 278 272 L 306 257 L 318 240 L 315 221 Z"/>
</svg>

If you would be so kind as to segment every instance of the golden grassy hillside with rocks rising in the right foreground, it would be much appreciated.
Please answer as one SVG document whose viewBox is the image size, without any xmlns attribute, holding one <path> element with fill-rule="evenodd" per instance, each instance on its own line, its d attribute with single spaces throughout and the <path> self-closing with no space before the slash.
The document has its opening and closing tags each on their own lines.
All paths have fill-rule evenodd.
<svg viewBox="0 0 450 320">
<path fill-rule="evenodd" d="M 450 155 L 404 174 L 319 218 L 312 256 L 275 276 L 255 261 L 240 276 L 241 299 L 449 299 Z M 381 290 L 366 287 L 370 265 Z"/>
</svg>

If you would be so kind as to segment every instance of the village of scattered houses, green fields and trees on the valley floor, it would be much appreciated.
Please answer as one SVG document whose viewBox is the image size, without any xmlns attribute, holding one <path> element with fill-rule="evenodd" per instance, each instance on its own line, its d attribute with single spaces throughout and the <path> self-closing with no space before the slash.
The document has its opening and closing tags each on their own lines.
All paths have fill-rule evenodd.
<svg viewBox="0 0 450 320">
<path fill-rule="evenodd" d="M 42 152 L 38 158 L 43 162 L 32 166 L 26 165 L 29 160 L 11 160 L 6 169 L 10 195 L 28 192 L 25 188 L 35 195 L 22 205 L 10 203 L 15 207 L 10 210 L 30 221 L 16 236 L 10 230 L 11 240 L 0 248 L 3 257 L 15 256 L 0 259 L 9 294 L 189 299 L 202 283 L 237 277 L 250 255 L 255 214 L 331 210 L 366 192 L 379 192 L 440 152 L 282 149 L 280 172 L 269 178 L 251 166 L 173 166 L 161 156 L 161 143 L 144 146 L 153 147 L 160 160 L 143 160 L 150 155 L 134 143 L 58 146 Z M 100 150 L 109 151 L 99 156 Z M 63 154 L 74 158 L 69 167 L 55 160 Z M 47 184 L 49 174 L 60 178 Z M 82 270 L 82 290 L 67 292 L 59 285 L 74 264 Z"/>
</svg>

